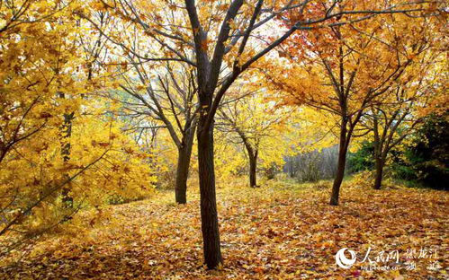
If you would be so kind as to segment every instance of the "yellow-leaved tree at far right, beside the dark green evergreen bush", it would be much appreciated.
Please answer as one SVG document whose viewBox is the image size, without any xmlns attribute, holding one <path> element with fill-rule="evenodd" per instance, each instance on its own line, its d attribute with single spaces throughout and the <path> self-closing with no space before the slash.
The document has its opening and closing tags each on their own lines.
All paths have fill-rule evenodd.
<svg viewBox="0 0 449 280">
<path fill-rule="evenodd" d="M 436 38 L 436 37 L 435 37 Z M 373 188 L 382 186 L 382 174 L 387 157 L 392 149 L 413 136 L 423 119 L 436 111 L 445 111 L 438 102 L 446 75 L 444 55 L 438 43 L 428 37 L 431 48 L 418 58 L 414 67 L 404 74 L 400 83 L 373 104 L 361 121 L 373 135 L 375 176 Z"/>
</svg>

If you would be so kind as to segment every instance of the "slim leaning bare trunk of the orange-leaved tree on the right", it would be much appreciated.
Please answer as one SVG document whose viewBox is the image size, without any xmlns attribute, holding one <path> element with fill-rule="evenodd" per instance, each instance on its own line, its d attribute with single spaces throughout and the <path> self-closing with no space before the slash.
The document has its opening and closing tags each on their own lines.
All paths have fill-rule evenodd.
<svg viewBox="0 0 449 280">
<path fill-rule="evenodd" d="M 340 127 L 340 144 L 338 146 L 338 162 L 337 162 L 337 175 L 334 179 L 334 184 L 332 186 L 332 194 L 330 196 L 329 204 L 331 206 L 338 205 L 338 196 L 340 194 L 340 187 L 345 177 L 345 166 L 346 166 L 346 152 L 347 146 L 349 142 L 349 136 L 346 136 L 347 128 L 346 122 L 342 121 L 342 125 Z"/>
</svg>

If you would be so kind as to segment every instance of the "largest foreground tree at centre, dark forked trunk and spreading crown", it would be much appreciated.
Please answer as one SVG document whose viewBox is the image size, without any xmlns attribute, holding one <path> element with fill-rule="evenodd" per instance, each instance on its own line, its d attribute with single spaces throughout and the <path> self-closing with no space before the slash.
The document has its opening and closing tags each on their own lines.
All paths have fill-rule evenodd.
<svg viewBox="0 0 449 280">
<path fill-rule="evenodd" d="M 320 1 L 107 1 L 98 8 L 109 9 L 125 22 L 133 22 L 157 46 L 144 61 L 175 60 L 196 68 L 197 97 L 200 104 L 197 140 L 201 193 L 202 236 L 207 267 L 216 268 L 222 258 L 215 195 L 213 163 L 214 118 L 220 101 L 239 75 L 265 57 L 295 31 L 312 31 L 332 24 L 360 22 L 381 13 L 418 12 L 416 3 L 370 3 L 355 7 L 355 2 L 323 4 Z M 292 24 L 267 43 L 264 31 L 274 20 L 296 11 Z M 114 40 L 120 40 L 115 31 Z M 159 50 L 160 49 L 160 50 Z"/>
</svg>

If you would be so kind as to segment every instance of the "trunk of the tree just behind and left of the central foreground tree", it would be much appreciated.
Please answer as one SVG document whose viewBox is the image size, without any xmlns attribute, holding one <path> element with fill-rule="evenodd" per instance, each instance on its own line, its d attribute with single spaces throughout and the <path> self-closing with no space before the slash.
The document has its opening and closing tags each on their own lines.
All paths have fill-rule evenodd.
<svg viewBox="0 0 449 280">
<path fill-rule="evenodd" d="M 193 131 L 188 132 L 183 139 L 183 144 L 178 148 L 178 164 L 176 169 L 175 199 L 176 203 L 185 204 L 187 202 L 187 179 L 189 177 L 190 159 L 193 147 Z"/>
</svg>

